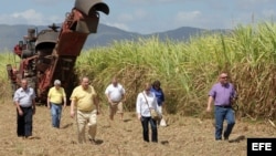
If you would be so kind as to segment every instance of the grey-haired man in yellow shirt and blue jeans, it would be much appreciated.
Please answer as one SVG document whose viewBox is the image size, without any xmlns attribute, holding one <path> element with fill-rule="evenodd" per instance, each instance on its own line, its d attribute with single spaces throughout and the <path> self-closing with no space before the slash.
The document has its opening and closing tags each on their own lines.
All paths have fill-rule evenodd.
<svg viewBox="0 0 276 156">
<path fill-rule="evenodd" d="M 61 81 L 55 80 L 54 86 L 51 87 L 47 93 L 47 107 L 51 108 L 52 125 L 55 128 L 60 128 L 62 104 L 63 107 L 66 106 L 66 94 L 64 89 L 61 86 Z"/>
</svg>

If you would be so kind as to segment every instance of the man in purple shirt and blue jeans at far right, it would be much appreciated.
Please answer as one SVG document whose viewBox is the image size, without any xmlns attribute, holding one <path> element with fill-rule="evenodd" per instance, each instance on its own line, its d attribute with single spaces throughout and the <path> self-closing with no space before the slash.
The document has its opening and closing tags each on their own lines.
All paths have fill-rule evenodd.
<svg viewBox="0 0 276 156">
<path fill-rule="evenodd" d="M 229 139 L 229 136 L 235 125 L 232 101 L 235 98 L 236 92 L 233 84 L 227 80 L 227 73 L 221 73 L 219 76 L 219 83 L 215 83 L 209 92 L 206 111 L 211 112 L 211 103 L 214 102 L 215 141 L 222 139 L 224 119 L 227 122 L 227 127 L 223 133 L 225 141 Z"/>
</svg>

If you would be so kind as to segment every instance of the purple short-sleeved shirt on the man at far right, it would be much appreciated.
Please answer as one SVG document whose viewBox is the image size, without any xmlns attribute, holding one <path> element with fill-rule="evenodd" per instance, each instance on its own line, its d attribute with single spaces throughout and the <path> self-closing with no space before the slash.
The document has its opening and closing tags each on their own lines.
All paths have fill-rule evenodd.
<svg viewBox="0 0 276 156">
<path fill-rule="evenodd" d="M 214 105 L 230 105 L 231 100 L 235 97 L 235 89 L 231 83 L 227 83 L 225 85 L 216 83 L 209 92 L 209 96 L 212 96 L 214 98 Z"/>
</svg>

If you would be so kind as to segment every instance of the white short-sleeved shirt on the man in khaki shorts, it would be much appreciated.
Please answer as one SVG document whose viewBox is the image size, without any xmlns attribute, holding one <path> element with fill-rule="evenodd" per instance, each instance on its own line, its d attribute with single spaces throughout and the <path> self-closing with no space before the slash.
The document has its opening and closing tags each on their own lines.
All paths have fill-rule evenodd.
<svg viewBox="0 0 276 156">
<path fill-rule="evenodd" d="M 119 83 L 117 86 L 109 84 L 105 90 L 105 94 L 108 95 L 113 102 L 120 102 L 125 92 L 125 89 Z"/>
</svg>

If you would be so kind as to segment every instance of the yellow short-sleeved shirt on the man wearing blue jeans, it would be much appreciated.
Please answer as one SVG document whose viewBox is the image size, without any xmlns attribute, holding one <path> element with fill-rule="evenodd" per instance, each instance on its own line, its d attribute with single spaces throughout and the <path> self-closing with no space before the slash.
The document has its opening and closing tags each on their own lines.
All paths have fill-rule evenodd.
<svg viewBox="0 0 276 156">
<path fill-rule="evenodd" d="M 62 104 L 63 97 L 66 97 L 66 94 L 63 87 L 56 89 L 53 86 L 49 90 L 47 97 L 50 97 L 51 103 Z"/>
</svg>

